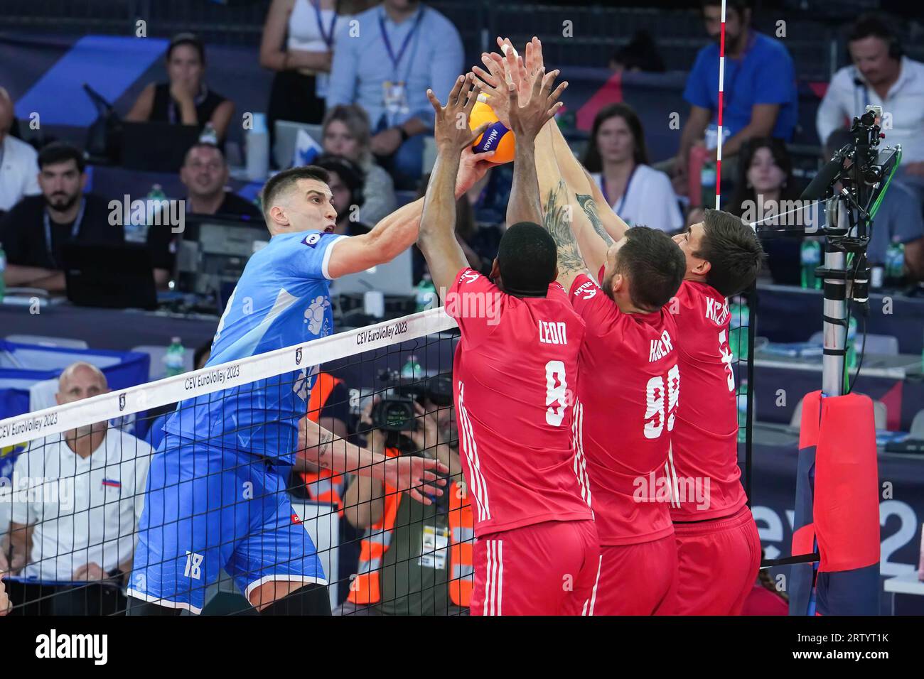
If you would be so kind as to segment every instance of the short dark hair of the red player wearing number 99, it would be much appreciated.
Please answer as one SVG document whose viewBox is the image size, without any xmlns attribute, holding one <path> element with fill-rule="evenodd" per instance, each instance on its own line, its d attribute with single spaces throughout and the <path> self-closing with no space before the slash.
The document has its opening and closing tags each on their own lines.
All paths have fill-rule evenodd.
<svg viewBox="0 0 924 679">
<path fill-rule="evenodd" d="M 633 226 L 616 253 L 615 273 L 629 279 L 629 297 L 639 309 L 661 309 L 687 273 L 687 259 L 677 244 L 661 229 Z"/>
</svg>

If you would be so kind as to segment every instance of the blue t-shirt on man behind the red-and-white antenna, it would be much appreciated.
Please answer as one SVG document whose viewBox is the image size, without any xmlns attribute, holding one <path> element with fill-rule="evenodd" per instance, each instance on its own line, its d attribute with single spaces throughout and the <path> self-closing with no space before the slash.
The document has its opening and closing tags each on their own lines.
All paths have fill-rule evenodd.
<svg viewBox="0 0 924 679">
<path fill-rule="evenodd" d="M 751 107 L 756 103 L 778 103 L 772 137 L 789 141 L 798 120 L 796 68 L 783 43 L 752 31 L 748 49 L 740 59 L 725 57 L 722 127 L 724 134 L 736 135 L 747 127 Z M 696 57 L 687 76 L 684 99 L 712 112 L 712 125 L 719 116 L 719 45 L 706 45 Z"/>
</svg>

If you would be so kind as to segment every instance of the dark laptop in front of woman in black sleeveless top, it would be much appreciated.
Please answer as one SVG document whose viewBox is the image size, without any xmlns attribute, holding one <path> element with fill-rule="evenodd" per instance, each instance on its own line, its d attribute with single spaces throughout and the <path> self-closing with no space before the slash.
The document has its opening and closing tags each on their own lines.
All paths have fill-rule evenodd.
<svg viewBox="0 0 924 679">
<path fill-rule="evenodd" d="M 145 172 L 179 172 L 199 127 L 170 123 L 122 123 L 122 166 Z"/>
</svg>

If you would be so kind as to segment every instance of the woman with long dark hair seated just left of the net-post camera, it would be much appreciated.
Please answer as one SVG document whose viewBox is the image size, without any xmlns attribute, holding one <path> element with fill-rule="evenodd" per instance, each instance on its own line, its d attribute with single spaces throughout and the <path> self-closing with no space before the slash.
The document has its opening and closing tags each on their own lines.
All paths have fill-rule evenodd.
<svg viewBox="0 0 924 679">
<path fill-rule="evenodd" d="M 804 212 L 791 212 L 801 191 L 793 179 L 793 162 L 780 139 L 749 139 L 741 148 L 735 193 L 726 210 L 764 227 L 799 227 Z M 791 212 L 783 214 L 783 212 Z M 800 284 L 802 238 L 761 237 L 774 283 Z"/>
</svg>

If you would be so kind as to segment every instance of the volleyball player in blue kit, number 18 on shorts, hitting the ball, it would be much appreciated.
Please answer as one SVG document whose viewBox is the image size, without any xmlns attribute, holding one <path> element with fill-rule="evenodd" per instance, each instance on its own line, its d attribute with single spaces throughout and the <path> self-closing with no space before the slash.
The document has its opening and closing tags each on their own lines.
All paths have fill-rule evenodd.
<svg viewBox="0 0 924 679">
<path fill-rule="evenodd" d="M 466 155 L 456 195 L 484 174 Z M 218 323 L 206 367 L 333 331 L 330 280 L 392 260 L 417 239 L 422 200 L 363 236 L 336 236 L 327 174 L 299 167 L 262 191 L 269 245 L 254 254 Z M 310 357 L 308 361 L 310 362 Z M 305 418 L 316 367 L 181 402 L 152 458 L 129 614 L 201 612 L 225 568 L 263 614 L 329 614 L 327 580 L 286 494 L 297 455 L 319 467 L 382 479 L 430 503 L 436 460 L 359 449 Z"/>
</svg>

